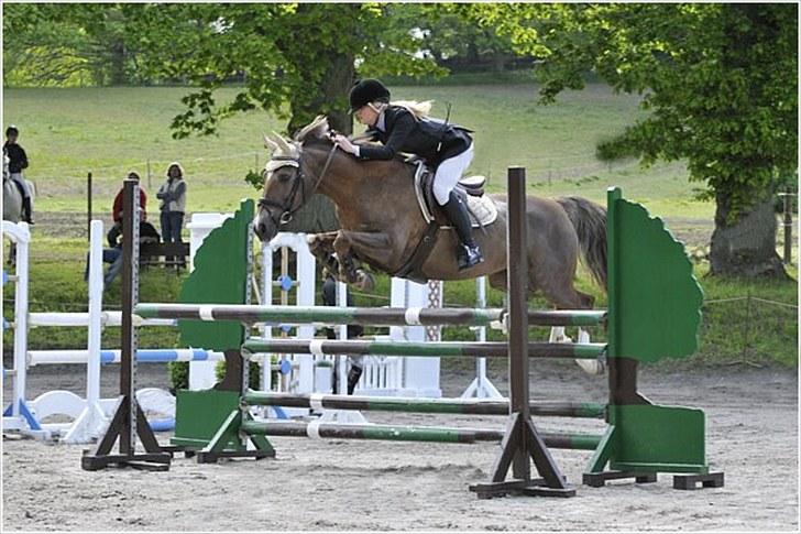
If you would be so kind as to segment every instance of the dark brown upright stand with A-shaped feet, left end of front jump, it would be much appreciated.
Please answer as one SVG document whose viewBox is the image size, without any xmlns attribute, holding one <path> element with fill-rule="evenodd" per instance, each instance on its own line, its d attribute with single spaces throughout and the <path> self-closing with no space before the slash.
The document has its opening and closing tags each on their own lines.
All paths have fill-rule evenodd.
<svg viewBox="0 0 801 534">
<path fill-rule="evenodd" d="M 123 187 L 120 396 L 106 435 L 94 454 L 84 450 L 80 467 L 87 471 L 111 465 L 166 471 L 172 455 L 158 445 L 134 394 L 136 329 L 133 325 L 133 306 L 139 299 L 139 185 L 135 181 L 125 179 Z M 144 454 L 136 453 L 136 436 L 142 440 Z M 111 450 L 117 442 L 119 454 L 113 455 Z"/>
</svg>

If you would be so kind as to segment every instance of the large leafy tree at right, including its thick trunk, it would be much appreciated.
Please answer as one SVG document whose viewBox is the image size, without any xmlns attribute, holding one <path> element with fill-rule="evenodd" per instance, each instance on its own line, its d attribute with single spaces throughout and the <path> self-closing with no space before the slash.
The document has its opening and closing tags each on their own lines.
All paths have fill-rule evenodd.
<svg viewBox="0 0 801 534">
<path fill-rule="evenodd" d="M 645 164 L 685 159 L 716 201 L 711 272 L 786 276 L 771 196 L 797 166 L 798 7 L 482 4 L 464 14 L 542 61 L 544 101 L 592 70 L 643 95 L 613 143 Z"/>
</svg>

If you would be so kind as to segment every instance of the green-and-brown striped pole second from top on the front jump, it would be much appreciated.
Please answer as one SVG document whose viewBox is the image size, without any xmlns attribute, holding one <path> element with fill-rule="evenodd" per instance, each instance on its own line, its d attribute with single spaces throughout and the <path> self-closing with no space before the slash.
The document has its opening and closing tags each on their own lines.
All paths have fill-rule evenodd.
<svg viewBox="0 0 801 534">
<path fill-rule="evenodd" d="M 503 341 L 365 341 L 328 339 L 248 339 L 245 352 L 286 355 L 382 355 L 413 357 L 476 357 L 507 358 L 508 346 Z M 595 359 L 606 349 L 605 344 L 529 342 L 529 358 Z"/>
</svg>

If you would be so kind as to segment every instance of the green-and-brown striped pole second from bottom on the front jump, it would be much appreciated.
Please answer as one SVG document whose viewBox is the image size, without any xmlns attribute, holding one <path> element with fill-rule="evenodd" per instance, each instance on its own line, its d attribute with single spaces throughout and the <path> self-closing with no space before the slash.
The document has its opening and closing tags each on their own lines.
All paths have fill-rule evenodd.
<svg viewBox="0 0 801 534">
<path fill-rule="evenodd" d="M 318 393 L 297 395 L 249 391 L 242 397 L 251 406 L 284 406 L 328 410 L 358 410 L 366 412 L 405 412 L 425 414 L 508 415 L 508 401 L 481 399 L 420 399 L 375 397 L 359 395 L 323 395 Z M 602 418 L 605 404 L 571 402 L 530 402 L 531 414 L 552 417 Z"/>
</svg>

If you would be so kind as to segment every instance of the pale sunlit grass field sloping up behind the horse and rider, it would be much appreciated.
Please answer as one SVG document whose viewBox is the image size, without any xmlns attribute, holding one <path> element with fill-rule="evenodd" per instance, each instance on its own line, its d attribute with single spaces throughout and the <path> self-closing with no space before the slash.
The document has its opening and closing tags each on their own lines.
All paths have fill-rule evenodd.
<svg viewBox="0 0 801 534">
<path fill-rule="evenodd" d="M 603 200 L 604 189 L 619 185 L 626 195 L 663 216 L 711 218 L 714 206 L 692 200 L 693 185 L 681 162 L 640 168 L 635 161 L 608 165 L 595 159 L 595 144 L 622 131 L 643 111 L 638 98 L 613 95 L 603 85 L 568 91 L 552 106 L 537 102 L 531 83 L 393 87 L 399 99 L 432 99 L 434 115 L 474 129 L 476 150 L 472 171 L 490 177 L 490 190 L 505 187 L 509 165 L 528 170 L 535 194 L 578 194 Z M 182 110 L 184 87 L 112 87 L 7 89 L 7 122 L 21 128 L 21 144 L 36 183 L 37 209 L 86 209 L 86 175 L 92 173 L 97 209 L 109 209 L 129 170 L 158 187 L 169 162 L 187 172 L 188 209 L 224 211 L 240 198 L 253 196 L 243 182 L 249 170 L 264 165 L 262 132 L 281 131 L 284 123 L 263 111 L 237 116 L 219 135 L 173 140 L 172 118 Z M 226 101 L 234 88 L 219 91 Z M 150 166 L 147 165 L 150 162 Z M 657 209 L 658 208 L 658 209 Z"/>
</svg>

